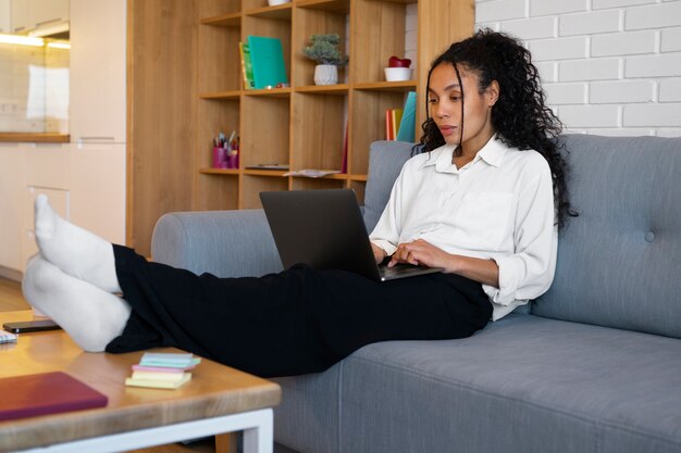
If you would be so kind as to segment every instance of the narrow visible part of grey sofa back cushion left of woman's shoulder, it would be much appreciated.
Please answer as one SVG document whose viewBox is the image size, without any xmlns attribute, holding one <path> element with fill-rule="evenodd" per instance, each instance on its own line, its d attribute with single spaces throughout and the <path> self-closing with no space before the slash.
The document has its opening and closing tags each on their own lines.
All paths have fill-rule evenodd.
<svg viewBox="0 0 681 453">
<path fill-rule="evenodd" d="M 369 149 L 369 175 L 364 190 L 364 224 L 371 232 L 391 198 L 393 184 L 411 156 L 413 143 L 374 141 Z"/>
</svg>

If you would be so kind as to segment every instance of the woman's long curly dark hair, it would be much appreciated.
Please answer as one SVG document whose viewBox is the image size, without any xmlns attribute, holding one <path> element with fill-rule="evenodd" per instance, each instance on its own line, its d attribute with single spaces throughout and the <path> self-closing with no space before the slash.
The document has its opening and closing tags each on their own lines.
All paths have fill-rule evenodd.
<svg viewBox="0 0 681 453">
<path fill-rule="evenodd" d="M 540 85 L 540 75 L 532 64 L 530 51 L 518 39 L 491 29 L 478 30 L 473 36 L 453 43 L 431 64 L 428 73 L 425 108 L 428 118 L 422 124 L 423 136 L 417 144 L 417 152 L 432 151 L 445 144 L 437 125 L 430 117 L 428 92 L 433 70 L 448 63 L 454 66 L 461 85 L 459 66 L 474 72 L 480 80 L 482 93 L 497 80 L 499 99 L 492 109 L 492 124 L 499 139 L 509 147 L 520 150 L 535 150 L 546 159 L 550 167 L 556 222 L 564 227 L 568 216 L 577 216 L 571 209 L 566 179 L 568 166 L 559 152 L 558 135 L 562 124 L 545 104 L 545 95 Z M 463 100 L 461 92 L 461 136 L 463 134 Z"/>
</svg>

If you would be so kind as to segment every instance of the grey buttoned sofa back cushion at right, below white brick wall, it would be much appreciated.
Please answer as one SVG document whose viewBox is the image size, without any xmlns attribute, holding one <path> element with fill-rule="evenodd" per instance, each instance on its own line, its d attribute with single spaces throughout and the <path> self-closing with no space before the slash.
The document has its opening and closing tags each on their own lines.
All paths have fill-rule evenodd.
<svg viewBox="0 0 681 453">
<path fill-rule="evenodd" d="M 565 139 L 580 216 L 532 313 L 681 338 L 681 139 Z"/>
</svg>

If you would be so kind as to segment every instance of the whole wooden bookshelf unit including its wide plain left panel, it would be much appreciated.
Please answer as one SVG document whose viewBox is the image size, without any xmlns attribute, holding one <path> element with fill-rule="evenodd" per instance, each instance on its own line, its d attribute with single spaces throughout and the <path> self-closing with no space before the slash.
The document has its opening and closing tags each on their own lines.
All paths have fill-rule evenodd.
<svg viewBox="0 0 681 453">
<path fill-rule="evenodd" d="M 405 54 L 409 4 L 418 9 L 418 70 L 388 83 L 384 66 Z M 413 7 L 411 7 L 413 8 Z M 384 138 L 385 110 L 416 90 L 417 135 L 431 61 L 474 26 L 474 0 L 128 0 L 128 244 L 150 254 L 165 212 L 260 207 L 262 190 L 352 188 L 363 200 L 369 146 Z M 337 33 L 349 64 L 338 85 L 314 86 L 302 55 L 312 34 Z M 245 90 L 239 41 L 282 40 L 290 87 Z M 262 163 L 340 169 L 323 178 L 244 169 Z M 211 168 L 212 139 L 240 137 L 238 169 Z"/>
</svg>

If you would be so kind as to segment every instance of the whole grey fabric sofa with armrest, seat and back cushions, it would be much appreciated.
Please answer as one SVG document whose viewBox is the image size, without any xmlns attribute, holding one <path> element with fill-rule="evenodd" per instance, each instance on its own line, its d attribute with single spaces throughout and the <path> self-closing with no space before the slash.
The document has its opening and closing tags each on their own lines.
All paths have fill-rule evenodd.
<svg viewBox="0 0 681 453">
<path fill-rule="evenodd" d="M 550 290 L 465 340 L 368 345 L 277 379 L 282 451 L 681 452 L 681 139 L 562 137 L 580 216 Z M 371 228 L 410 146 L 373 143 Z M 261 275 L 281 263 L 261 211 L 163 216 L 153 257 Z"/>
</svg>

